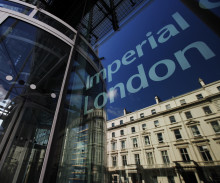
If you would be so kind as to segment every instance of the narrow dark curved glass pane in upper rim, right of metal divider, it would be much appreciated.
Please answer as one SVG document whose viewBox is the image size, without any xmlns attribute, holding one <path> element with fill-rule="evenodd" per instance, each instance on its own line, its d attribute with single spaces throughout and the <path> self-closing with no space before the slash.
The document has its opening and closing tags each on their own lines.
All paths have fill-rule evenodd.
<svg viewBox="0 0 220 183">
<path fill-rule="evenodd" d="M 60 23 L 59 21 L 55 20 L 54 18 L 52 18 L 52 17 L 50 17 L 40 11 L 38 11 L 34 15 L 34 18 L 36 18 L 37 20 L 42 21 L 45 24 L 50 25 L 51 27 L 57 29 L 58 31 L 65 34 L 70 39 L 73 39 L 75 36 L 75 33 L 71 29 L 69 29 L 68 27 L 66 27 L 65 25 Z"/>
</svg>

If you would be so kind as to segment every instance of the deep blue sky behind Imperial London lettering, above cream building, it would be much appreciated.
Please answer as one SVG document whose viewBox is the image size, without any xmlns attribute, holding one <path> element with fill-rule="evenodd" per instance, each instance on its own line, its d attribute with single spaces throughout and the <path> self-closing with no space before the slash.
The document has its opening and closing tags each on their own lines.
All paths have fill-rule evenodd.
<svg viewBox="0 0 220 183">
<path fill-rule="evenodd" d="M 219 16 L 218 1 L 201 1 Z M 155 104 L 155 96 L 165 101 L 198 89 L 199 78 L 207 84 L 220 79 L 218 35 L 177 0 L 150 3 L 99 47 L 99 56 L 114 99 L 106 105 L 108 120 L 124 108 Z"/>
</svg>

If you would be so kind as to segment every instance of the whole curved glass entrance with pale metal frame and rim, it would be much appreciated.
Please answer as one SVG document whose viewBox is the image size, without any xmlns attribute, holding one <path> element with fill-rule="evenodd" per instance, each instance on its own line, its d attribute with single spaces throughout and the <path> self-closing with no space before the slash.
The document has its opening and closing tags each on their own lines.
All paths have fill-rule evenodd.
<svg viewBox="0 0 220 183">
<path fill-rule="evenodd" d="M 0 65 L 1 182 L 104 182 L 94 101 L 105 85 L 99 75 L 86 87 L 102 69 L 89 44 L 43 10 L 0 0 Z"/>
</svg>

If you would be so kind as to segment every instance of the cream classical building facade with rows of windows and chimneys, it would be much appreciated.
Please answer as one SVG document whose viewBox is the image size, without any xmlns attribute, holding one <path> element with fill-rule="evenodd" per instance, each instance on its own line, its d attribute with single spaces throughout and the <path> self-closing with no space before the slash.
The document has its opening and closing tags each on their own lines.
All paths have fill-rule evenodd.
<svg viewBox="0 0 220 183">
<path fill-rule="evenodd" d="M 107 123 L 110 182 L 220 182 L 220 81 Z"/>
</svg>

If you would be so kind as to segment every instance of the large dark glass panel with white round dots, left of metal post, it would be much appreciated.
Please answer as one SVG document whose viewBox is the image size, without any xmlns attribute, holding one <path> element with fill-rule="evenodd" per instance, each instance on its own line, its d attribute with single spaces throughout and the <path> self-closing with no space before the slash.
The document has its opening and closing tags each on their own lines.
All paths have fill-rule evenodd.
<svg viewBox="0 0 220 183">
<path fill-rule="evenodd" d="M 10 147 L 0 180 L 38 182 L 70 46 L 14 18 L 0 25 L 0 35 L 0 141 Z"/>
</svg>

